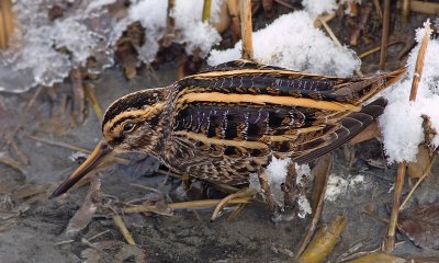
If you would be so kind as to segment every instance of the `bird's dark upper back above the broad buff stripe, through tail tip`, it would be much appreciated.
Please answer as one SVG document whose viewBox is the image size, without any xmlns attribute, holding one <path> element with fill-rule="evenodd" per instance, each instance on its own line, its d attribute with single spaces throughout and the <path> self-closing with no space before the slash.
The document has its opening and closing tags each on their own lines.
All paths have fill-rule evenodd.
<svg viewBox="0 0 439 263">
<path fill-rule="evenodd" d="M 372 77 L 340 78 L 239 59 L 190 76 L 180 81 L 179 89 L 200 92 L 202 88 L 209 87 L 211 92 L 218 93 L 294 96 L 358 106 L 394 83 L 405 71 L 406 69 L 402 68 Z"/>
</svg>

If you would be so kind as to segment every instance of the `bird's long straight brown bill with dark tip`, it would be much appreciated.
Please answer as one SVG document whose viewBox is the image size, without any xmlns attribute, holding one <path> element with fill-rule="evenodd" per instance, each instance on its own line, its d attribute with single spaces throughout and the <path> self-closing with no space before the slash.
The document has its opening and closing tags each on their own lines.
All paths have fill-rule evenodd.
<svg viewBox="0 0 439 263">
<path fill-rule="evenodd" d="M 103 140 L 99 141 L 90 157 L 70 174 L 52 194 L 50 198 L 66 193 L 71 186 L 78 183 L 91 170 L 98 167 L 112 152 L 111 147 Z"/>
</svg>

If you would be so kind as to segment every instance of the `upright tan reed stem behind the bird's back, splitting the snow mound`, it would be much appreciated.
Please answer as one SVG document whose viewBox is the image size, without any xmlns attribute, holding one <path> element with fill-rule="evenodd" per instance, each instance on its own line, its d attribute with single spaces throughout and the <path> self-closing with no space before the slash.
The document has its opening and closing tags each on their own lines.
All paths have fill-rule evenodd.
<svg viewBox="0 0 439 263">
<path fill-rule="evenodd" d="M 239 0 L 240 4 L 240 31 L 243 38 L 244 59 L 254 59 L 252 24 L 251 24 L 251 1 Z"/>
</svg>

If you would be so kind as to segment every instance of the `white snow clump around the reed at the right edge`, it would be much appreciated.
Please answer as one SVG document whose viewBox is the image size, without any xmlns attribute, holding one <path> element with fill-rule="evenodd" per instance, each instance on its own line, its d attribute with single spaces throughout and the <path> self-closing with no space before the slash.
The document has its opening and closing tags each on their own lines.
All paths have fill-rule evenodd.
<svg viewBox="0 0 439 263">
<path fill-rule="evenodd" d="M 419 43 L 424 34 L 424 30 L 417 31 L 416 38 Z M 405 78 L 384 92 L 389 105 L 380 117 L 380 128 L 390 163 L 416 159 L 418 145 L 424 141 L 423 114 L 429 116 L 432 127 L 439 130 L 438 39 L 429 41 L 416 101 L 408 101 L 419 46 L 420 44 L 408 57 Z M 432 142 L 435 147 L 438 147 L 439 136 L 436 136 Z"/>
</svg>

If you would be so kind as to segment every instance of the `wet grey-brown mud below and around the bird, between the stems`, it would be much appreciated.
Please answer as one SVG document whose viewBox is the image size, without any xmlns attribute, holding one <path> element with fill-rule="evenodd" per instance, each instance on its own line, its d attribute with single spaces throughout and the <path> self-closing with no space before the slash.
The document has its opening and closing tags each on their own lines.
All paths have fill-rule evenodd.
<svg viewBox="0 0 439 263">
<path fill-rule="evenodd" d="M 376 57 L 370 59 L 376 61 Z M 373 64 L 368 65 L 373 68 Z M 171 83 L 176 79 L 176 62 L 167 62 L 154 73 L 144 70 L 134 80 L 127 81 L 122 69 L 115 66 L 91 82 L 98 89 L 101 105 L 106 107 L 113 100 L 131 91 Z M 63 100 L 59 98 L 69 94 L 70 87 L 68 80 L 55 87 L 57 99 L 43 89 L 29 111 L 25 111 L 26 105 L 36 89 L 21 95 L 0 96 L 0 142 L 3 145 L 19 125 L 20 129 L 14 133 L 12 141 L 29 159 L 29 164 L 21 163 L 15 168 L 0 163 L 1 263 L 100 262 L 97 256 L 103 258 L 102 262 L 291 261 L 311 218 L 272 222 L 267 207 L 259 202 L 248 205 L 232 221 L 223 216 L 210 222 L 212 209 L 177 210 L 173 216 L 124 215 L 124 221 L 137 242 L 135 248 L 125 244 L 108 214 L 98 213 L 87 228 L 67 236 L 65 228 L 81 206 L 88 185 L 59 198 L 48 199 L 54 187 L 79 165 L 79 161 L 70 159 L 76 151 L 37 141 L 35 137 L 88 149 L 99 141 L 100 122 L 91 108 L 85 124 L 74 128 L 69 127 L 68 114 L 63 115 Z M 356 152 L 351 165 L 346 151 Z M 4 152 L 2 157 L 20 159 L 11 146 L 2 147 L 0 152 Z M 156 165 L 154 160 L 140 156 L 126 158 L 135 160 L 130 164 L 113 164 L 100 172 L 101 203 L 120 204 L 155 197 L 155 192 L 138 185 L 159 190 L 173 202 L 221 195 L 209 191 L 206 196 L 196 190 L 182 194 L 179 179 L 149 171 Z M 328 222 L 336 215 L 344 215 L 348 219 L 340 241 L 327 262 L 340 262 L 347 255 L 380 248 L 386 224 L 362 211 L 372 210 L 380 217 L 389 217 L 396 174 L 394 165 L 383 164 L 382 147 L 376 139 L 351 149 L 339 149 L 334 153 L 334 160 L 331 176 L 350 182 L 363 175 L 363 181 L 342 188 L 340 194 L 325 203 L 320 221 Z M 432 175 L 412 199 L 412 205 L 437 201 L 438 171 L 436 164 Z M 406 188 L 409 187 L 407 185 Z M 102 235 L 93 238 L 98 233 Z M 437 251 L 417 248 L 401 235 L 397 238 L 396 254 L 406 258 L 438 256 L 429 262 L 439 262 Z M 111 249 L 102 252 L 103 247 L 99 245 L 104 244 Z"/>
</svg>

